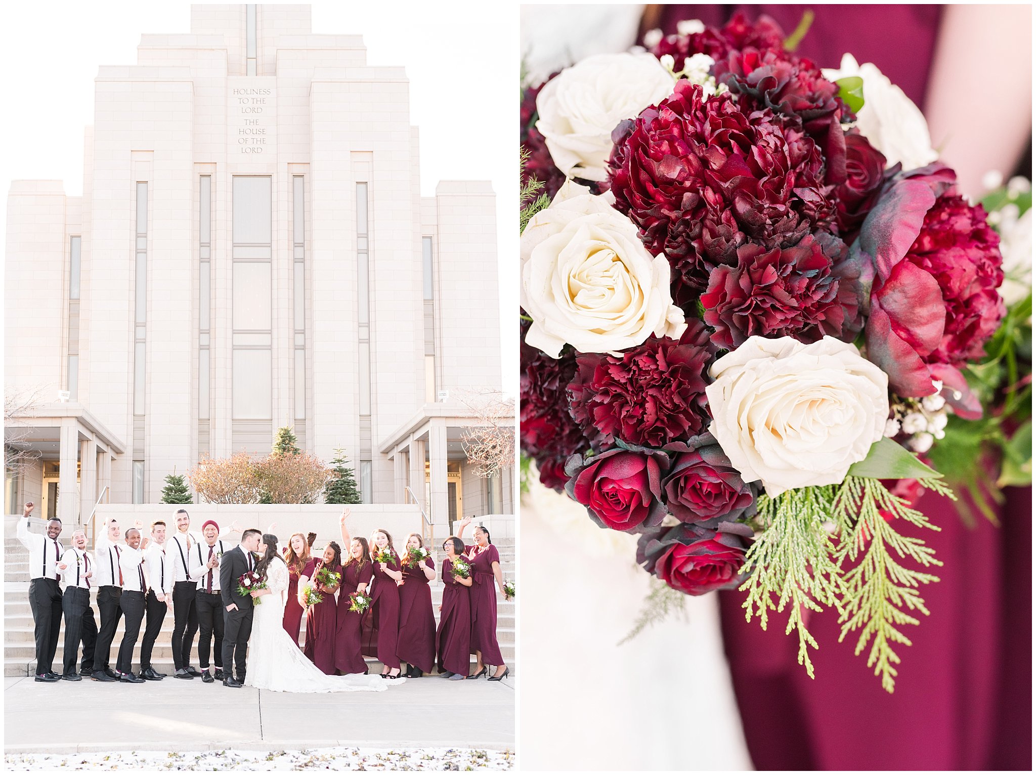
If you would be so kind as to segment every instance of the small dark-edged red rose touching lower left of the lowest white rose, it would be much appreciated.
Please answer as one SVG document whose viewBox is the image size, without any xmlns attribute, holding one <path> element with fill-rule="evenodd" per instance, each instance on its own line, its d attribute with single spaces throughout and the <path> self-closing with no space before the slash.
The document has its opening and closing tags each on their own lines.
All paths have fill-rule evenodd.
<svg viewBox="0 0 1036 775">
<path fill-rule="evenodd" d="M 677 452 L 675 444 L 669 452 Z M 681 444 L 662 480 L 662 494 L 669 513 L 681 522 L 714 518 L 735 521 L 755 513 L 758 488 L 745 484 L 722 448 L 709 433 Z"/>
</svg>

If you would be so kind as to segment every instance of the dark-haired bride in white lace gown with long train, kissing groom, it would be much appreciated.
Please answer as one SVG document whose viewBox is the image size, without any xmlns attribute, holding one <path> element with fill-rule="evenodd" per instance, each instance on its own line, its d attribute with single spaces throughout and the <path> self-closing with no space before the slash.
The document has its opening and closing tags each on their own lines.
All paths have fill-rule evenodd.
<svg viewBox="0 0 1036 775">
<path fill-rule="evenodd" d="M 249 638 L 244 685 L 290 692 L 384 691 L 405 679 L 383 681 L 380 676 L 326 676 L 295 645 L 284 630 L 284 593 L 288 567 L 277 549 L 277 537 L 264 534 L 262 557 L 256 570 L 265 575 L 266 589 L 252 593 L 256 605 Z M 261 601 L 261 602 L 260 602 Z"/>
</svg>

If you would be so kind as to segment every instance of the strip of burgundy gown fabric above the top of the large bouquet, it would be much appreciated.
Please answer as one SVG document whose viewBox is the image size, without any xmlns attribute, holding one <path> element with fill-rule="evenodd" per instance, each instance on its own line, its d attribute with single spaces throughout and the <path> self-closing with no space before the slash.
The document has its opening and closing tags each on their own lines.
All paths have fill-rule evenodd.
<svg viewBox="0 0 1036 775">
<path fill-rule="evenodd" d="M 721 26 L 741 10 L 754 21 L 766 13 L 784 34 L 799 26 L 809 7 L 816 15 L 796 53 L 821 67 L 838 67 L 842 54 L 860 64 L 873 62 L 914 103 L 924 110 L 925 89 L 936 52 L 941 5 L 664 5 L 659 27 L 677 31 L 677 22 L 700 19 Z"/>
</svg>

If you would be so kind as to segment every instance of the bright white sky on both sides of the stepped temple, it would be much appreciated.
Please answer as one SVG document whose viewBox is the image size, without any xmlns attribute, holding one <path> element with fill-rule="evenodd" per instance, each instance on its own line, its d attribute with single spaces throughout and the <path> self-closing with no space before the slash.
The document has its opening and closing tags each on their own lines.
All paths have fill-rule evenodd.
<svg viewBox="0 0 1036 775">
<path fill-rule="evenodd" d="M 403 65 L 421 130 L 421 190 L 489 179 L 496 192 L 503 388 L 518 393 L 517 5 L 314 2 L 313 32 L 362 34 L 368 63 Z M 0 15 L 0 191 L 13 179 L 83 191 L 83 128 L 98 65 L 136 64 L 141 33 L 189 33 L 190 3 L 5 3 Z M 512 39 L 513 38 L 513 39 Z M 6 207 L 4 208 L 6 210 Z M 0 243 L 6 222 L 0 224 Z"/>
</svg>

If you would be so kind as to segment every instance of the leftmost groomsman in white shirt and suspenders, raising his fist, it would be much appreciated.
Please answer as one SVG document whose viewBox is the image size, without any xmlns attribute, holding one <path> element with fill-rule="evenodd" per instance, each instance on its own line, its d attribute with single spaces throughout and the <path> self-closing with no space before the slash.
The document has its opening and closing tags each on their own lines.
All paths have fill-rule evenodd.
<svg viewBox="0 0 1036 775">
<path fill-rule="evenodd" d="M 47 522 L 47 535 L 29 533 L 29 514 L 33 504 L 25 505 L 25 513 L 18 520 L 15 533 L 22 545 L 29 550 L 29 607 L 32 609 L 36 641 L 36 681 L 53 684 L 60 681 L 54 673 L 54 655 L 58 650 L 61 629 L 61 587 L 58 586 L 58 562 L 64 553 L 58 536 L 61 520 Z"/>
</svg>

